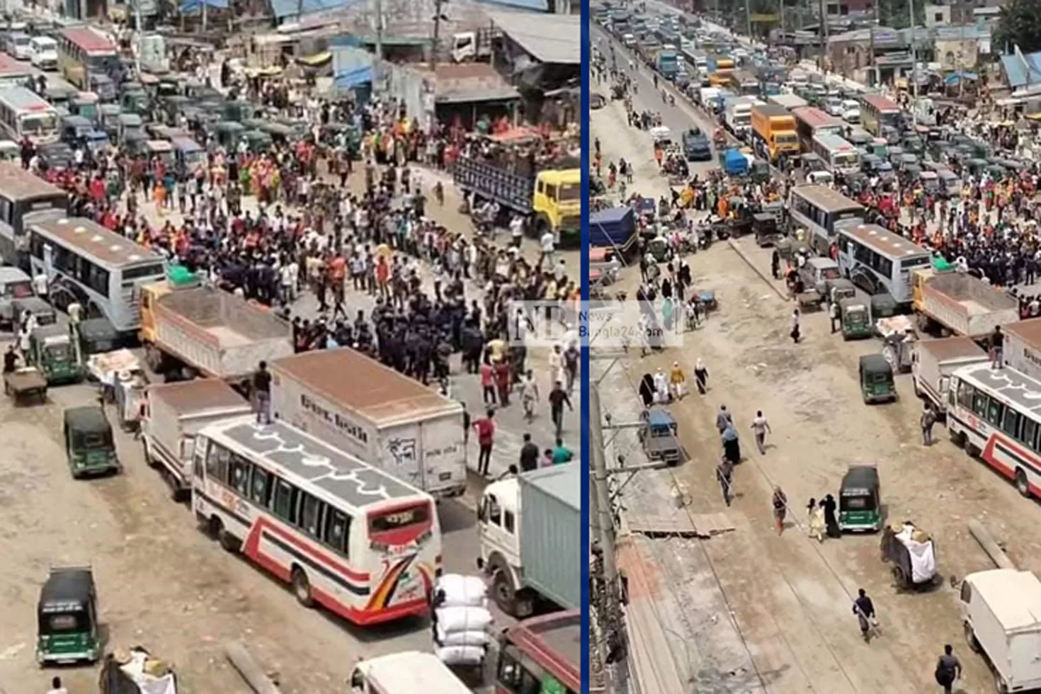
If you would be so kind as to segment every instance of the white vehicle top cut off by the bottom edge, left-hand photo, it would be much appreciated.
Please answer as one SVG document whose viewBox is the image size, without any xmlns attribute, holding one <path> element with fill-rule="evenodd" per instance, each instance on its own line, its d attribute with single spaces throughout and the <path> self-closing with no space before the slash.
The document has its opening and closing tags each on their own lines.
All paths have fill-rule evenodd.
<svg viewBox="0 0 1041 694">
<path fill-rule="evenodd" d="M 351 673 L 351 694 L 473 694 L 433 653 L 406 650 L 362 661 Z"/>
</svg>

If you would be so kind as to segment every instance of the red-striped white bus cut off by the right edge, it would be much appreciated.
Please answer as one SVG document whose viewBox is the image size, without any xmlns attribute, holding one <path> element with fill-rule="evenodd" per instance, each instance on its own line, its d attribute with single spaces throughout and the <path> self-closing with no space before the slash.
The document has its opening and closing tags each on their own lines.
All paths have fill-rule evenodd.
<svg viewBox="0 0 1041 694">
<path fill-rule="evenodd" d="M 989 363 L 958 369 L 947 387 L 947 431 L 1020 494 L 1041 496 L 1041 383 Z"/>
</svg>

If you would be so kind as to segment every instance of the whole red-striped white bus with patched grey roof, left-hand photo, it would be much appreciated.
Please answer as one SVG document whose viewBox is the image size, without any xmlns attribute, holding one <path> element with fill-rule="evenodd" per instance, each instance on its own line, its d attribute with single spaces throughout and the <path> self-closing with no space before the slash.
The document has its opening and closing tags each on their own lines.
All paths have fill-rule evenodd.
<svg viewBox="0 0 1041 694">
<path fill-rule="evenodd" d="M 196 518 L 229 551 L 355 624 L 429 612 L 434 498 L 281 421 L 210 425 L 193 453 Z"/>
</svg>

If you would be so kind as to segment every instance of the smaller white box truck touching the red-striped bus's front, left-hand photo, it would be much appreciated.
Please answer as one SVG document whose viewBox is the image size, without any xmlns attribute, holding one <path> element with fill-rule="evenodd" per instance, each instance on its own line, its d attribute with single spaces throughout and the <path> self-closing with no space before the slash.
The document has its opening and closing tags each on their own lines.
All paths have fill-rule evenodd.
<svg viewBox="0 0 1041 694">
<path fill-rule="evenodd" d="M 142 421 L 145 461 L 162 472 L 174 495 L 192 491 L 192 449 L 203 427 L 252 411 L 250 404 L 220 379 L 160 383 L 145 391 Z"/>
</svg>

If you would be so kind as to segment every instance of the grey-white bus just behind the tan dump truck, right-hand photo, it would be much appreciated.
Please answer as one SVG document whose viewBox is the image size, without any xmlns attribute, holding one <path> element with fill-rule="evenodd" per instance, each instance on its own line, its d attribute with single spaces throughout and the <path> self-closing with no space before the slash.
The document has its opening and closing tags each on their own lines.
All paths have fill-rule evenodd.
<svg viewBox="0 0 1041 694">
<path fill-rule="evenodd" d="M 911 305 L 911 273 L 929 267 L 932 254 L 875 224 L 838 232 L 839 272 L 869 294 L 889 293 L 899 307 Z"/>
</svg>

